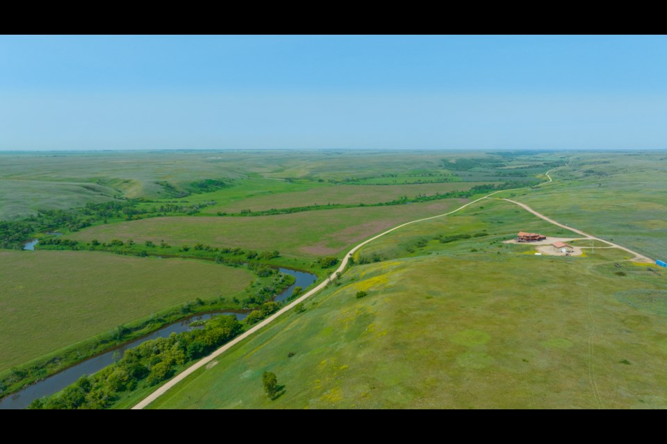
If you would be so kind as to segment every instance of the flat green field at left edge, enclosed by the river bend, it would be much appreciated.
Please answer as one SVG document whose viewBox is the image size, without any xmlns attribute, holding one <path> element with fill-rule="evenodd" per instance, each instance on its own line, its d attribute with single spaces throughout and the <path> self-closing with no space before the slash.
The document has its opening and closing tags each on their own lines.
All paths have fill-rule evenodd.
<svg viewBox="0 0 667 444">
<path fill-rule="evenodd" d="M 239 293 L 242 268 L 78 251 L 0 251 L 0 371 L 195 298 Z"/>
</svg>

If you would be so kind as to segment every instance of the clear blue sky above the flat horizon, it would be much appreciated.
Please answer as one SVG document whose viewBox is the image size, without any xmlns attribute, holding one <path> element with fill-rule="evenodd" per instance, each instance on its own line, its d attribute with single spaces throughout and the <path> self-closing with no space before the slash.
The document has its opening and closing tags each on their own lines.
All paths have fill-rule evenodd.
<svg viewBox="0 0 667 444">
<path fill-rule="evenodd" d="M 667 37 L 0 36 L 0 150 L 667 148 Z"/>
</svg>

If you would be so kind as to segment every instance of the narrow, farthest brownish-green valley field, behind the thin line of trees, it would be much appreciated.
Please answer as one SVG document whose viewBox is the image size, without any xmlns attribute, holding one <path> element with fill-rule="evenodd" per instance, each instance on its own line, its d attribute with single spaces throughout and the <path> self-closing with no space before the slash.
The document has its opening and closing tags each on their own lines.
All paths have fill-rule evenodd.
<svg viewBox="0 0 667 444">
<path fill-rule="evenodd" d="M 267 182 L 268 180 L 265 180 Z M 273 181 L 275 182 L 275 180 Z M 308 205 L 365 205 L 388 202 L 400 199 L 403 196 L 434 196 L 449 191 L 465 191 L 475 185 L 485 185 L 490 182 L 452 182 L 429 183 L 417 185 L 325 185 L 306 189 L 305 191 L 276 192 L 267 189 L 261 194 L 240 198 L 235 202 L 224 205 L 213 205 L 204 209 L 204 214 L 217 212 L 240 212 L 241 210 L 271 210 L 272 208 L 305 207 Z M 274 185 L 274 184 L 272 184 Z M 224 191 L 216 194 L 224 199 Z M 234 190 L 230 189 L 229 194 Z"/>
</svg>

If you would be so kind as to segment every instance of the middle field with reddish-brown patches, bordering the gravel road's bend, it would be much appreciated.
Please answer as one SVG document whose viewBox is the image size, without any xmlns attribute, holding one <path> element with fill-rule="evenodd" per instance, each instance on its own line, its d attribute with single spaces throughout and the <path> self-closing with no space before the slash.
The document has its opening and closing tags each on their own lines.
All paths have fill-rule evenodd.
<svg viewBox="0 0 667 444">
<path fill-rule="evenodd" d="M 211 246 L 239 246 L 279 250 L 281 254 L 312 259 L 340 255 L 359 241 L 400 223 L 435 216 L 466 200 L 443 199 L 410 205 L 318 210 L 277 216 L 182 216 L 97 225 L 68 235 L 79 241 L 133 239 L 164 240 L 171 245 L 197 242 Z"/>
</svg>

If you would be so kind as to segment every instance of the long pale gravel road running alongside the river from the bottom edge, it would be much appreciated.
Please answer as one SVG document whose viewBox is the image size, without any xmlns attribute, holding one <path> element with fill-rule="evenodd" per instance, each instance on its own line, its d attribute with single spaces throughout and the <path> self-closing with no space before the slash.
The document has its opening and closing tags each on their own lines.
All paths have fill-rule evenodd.
<svg viewBox="0 0 667 444">
<path fill-rule="evenodd" d="M 493 196 L 493 194 L 500 193 L 501 191 L 508 191 L 508 190 L 493 191 L 493 193 L 491 193 L 491 194 L 487 194 L 486 196 L 481 197 L 477 200 L 472 200 L 472 202 L 468 202 L 465 205 L 461 205 L 460 207 L 456 208 L 456 210 L 450 211 L 450 212 L 445 213 L 445 214 L 438 214 L 438 216 L 425 217 L 424 219 L 417 219 L 416 221 L 406 222 L 406 223 L 398 225 L 394 228 L 391 228 L 390 230 L 386 230 L 385 232 L 381 232 L 380 234 L 377 234 L 377 236 L 371 237 L 370 239 L 366 239 L 365 241 L 361 242 L 361 244 L 358 244 L 357 246 L 352 248 L 352 250 L 349 250 L 347 255 L 345 255 L 345 257 L 343 258 L 343 261 L 340 262 L 340 266 L 338 268 L 336 268 L 336 271 L 334 271 L 334 273 L 331 273 L 331 275 L 329 276 L 329 278 L 327 280 L 324 280 L 324 282 L 321 282 L 317 287 L 315 287 L 311 291 L 308 291 L 307 293 L 305 293 L 304 296 L 301 296 L 297 300 L 294 300 L 289 305 L 286 305 L 286 307 L 283 307 L 282 309 L 277 311 L 272 316 L 266 318 L 264 321 L 261 321 L 260 323 L 254 325 L 254 327 L 250 328 L 245 333 L 241 334 L 240 336 L 236 336 L 236 338 L 232 339 L 231 341 L 229 341 L 225 345 L 222 345 L 222 347 L 215 350 L 215 352 L 213 352 L 211 355 L 208 355 L 207 357 L 202 358 L 199 361 L 195 362 L 195 364 L 192 364 L 192 366 L 186 368 L 186 370 L 183 370 L 181 373 L 174 376 L 172 379 L 167 381 L 163 386 L 160 386 L 160 388 L 158 388 L 156 391 L 154 391 L 153 393 L 148 395 L 141 402 L 139 402 L 134 407 L 132 407 L 132 409 L 133 410 L 134 409 L 143 409 L 144 407 L 147 407 L 148 404 L 150 404 L 154 400 L 158 399 L 161 395 L 167 393 L 167 391 L 170 388 L 172 388 L 173 386 L 175 386 L 176 384 L 181 382 L 183 379 L 188 377 L 188 375 L 191 375 L 197 369 L 199 369 L 203 366 L 206 366 L 206 364 L 210 363 L 211 361 L 213 361 L 213 359 L 222 355 L 222 353 L 226 352 L 227 350 L 232 348 L 234 345 L 238 344 L 243 339 L 246 339 L 248 336 L 257 332 L 258 330 L 265 327 L 266 325 L 269 325 L 270 323 L 275 321 L 279 316 L 285 314 L 287 311 L 290 311 L 290 309 L 293 309 L 295 307 L 295 305 L 297 305 L 301 302 L 304 302 L 304 300 L 310 298 L 311 296 L 313 296 L 318 291 L 324 289 L 324 287 L 327 287 L 327 284 L 329 284 L 329 282 L 331 282 L 331 280 L 336 278 L 336 273 L 343 273 L 343 270 L 345 270 L 345 267 L 347 266 L 347 262 L 349 261 L 349 258 L 356 252 L 356 250 L 359 250 L 359 248 L 365 246 L 365 244 L 368 244 L 369 242 L 372 242 L 375 239 L 378 239 L 379 237 L 384 236 L 385 234 L 388 234 L 390 232 L 398 230 L 399 228 L 403 228 L 406 225 L 410 225 L 412 223 L 418 223 L 418 222 L 422 222 L 422 221 L 428 221 L 430 219 L 436 219 L 438 217 L 443 217 L 443 216 L 447 216 L 448 214 L 458 212 L 460 210 L 463 210 L 463 208 L 468 207 L 468 205 L 472 205 L 473 203 L 477 203 L 477 202 L 479 202 L 479 200 L 486 199 L 489 196 Z"/>
</svg>

